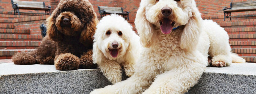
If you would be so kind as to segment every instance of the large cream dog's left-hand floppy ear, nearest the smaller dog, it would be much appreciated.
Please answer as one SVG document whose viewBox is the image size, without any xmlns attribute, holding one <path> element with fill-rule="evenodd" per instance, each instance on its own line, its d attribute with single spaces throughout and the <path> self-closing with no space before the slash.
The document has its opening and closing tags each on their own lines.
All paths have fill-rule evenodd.
<svg viewBox="0 0 256 94">
<path fill-rule="evenodd" d="M 153 25 L 146 20 L 144 5 L 140 4 L 134 21 L 137 32 L 140 36 L 141 45 L 149 47 L 152 44 L 154 33 Z"/>
</svg>

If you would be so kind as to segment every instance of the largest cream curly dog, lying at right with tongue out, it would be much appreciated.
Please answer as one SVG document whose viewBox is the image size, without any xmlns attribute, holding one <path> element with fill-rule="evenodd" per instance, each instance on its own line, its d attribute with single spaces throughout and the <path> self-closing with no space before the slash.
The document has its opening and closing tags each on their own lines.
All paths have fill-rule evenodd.
<svg viewBox="0 0 256 94">
<path fill-rule="evenodd" d="M 194 0 L 141 0 L 135 25 L 145 47 L 135 73 L 91 94 L 182 94 L 196 85 L 208 54 L 216 67 L 245 62 L 230 52 L 223 28 L 202 20 Z"/>
</svg>

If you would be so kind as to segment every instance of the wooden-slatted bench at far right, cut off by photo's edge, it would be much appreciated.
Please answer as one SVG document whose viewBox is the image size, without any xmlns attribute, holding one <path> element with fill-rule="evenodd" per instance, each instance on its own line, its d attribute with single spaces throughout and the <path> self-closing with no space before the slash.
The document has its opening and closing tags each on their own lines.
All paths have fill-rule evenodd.
<svg viewBox="0 0 256 94">
<path fill-rule="evenodd" d="M 230 18 L 232 12 L 241 12 L 241 11 L 256 11 L 256 1 L 247 1 L 247 2 L 231 2 L 230 7 L 224 7 L 222 9 L 224 12 L 224 21 L 225 18 Z"/>
</svg>

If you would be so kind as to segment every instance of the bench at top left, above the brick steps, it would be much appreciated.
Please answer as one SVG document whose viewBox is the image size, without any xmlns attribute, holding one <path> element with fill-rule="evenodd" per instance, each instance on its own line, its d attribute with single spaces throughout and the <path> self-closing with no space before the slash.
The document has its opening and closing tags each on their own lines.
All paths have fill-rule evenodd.
<svg viewBox="0 0 256 94">
<path fill-rule="evenodd" d="M 45 14 L 51 15 L 51 7 L 45 6 L 44 2 L 11 0 L 14 14 L 20 15 L 19 9 L 42 10 Z"/>
</svg>

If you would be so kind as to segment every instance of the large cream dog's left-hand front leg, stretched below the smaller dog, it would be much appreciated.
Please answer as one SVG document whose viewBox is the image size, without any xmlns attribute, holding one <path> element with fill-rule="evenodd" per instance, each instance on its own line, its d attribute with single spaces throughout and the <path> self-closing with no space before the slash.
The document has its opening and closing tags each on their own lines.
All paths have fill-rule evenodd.
<svg viewBox="0 0 256 94">
<path fill-rule="evenodd" d="M 141 58 L 136 64 L 135 73 L 127 80 L 95 89 L 90 94 L 140 94 L 148 89 L 159 70 L 154 65 L 154 60 L 148 57 Z"/>
</svg>

